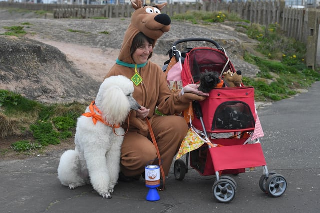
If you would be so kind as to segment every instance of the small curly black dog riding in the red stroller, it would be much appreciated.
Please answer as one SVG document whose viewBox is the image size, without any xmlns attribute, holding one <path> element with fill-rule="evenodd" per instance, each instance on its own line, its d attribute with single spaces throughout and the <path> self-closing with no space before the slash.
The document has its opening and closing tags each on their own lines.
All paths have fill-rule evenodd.
<svg viewBox="0 0 320 213">
<path fill-rule="evenodd" d="M 220 83 L 220 77 L 218 72 L 207 71 L 200 74 L 200 86 L 198 90 L 202 92 L 210 92 L 218 83 Z"/>
</svg>

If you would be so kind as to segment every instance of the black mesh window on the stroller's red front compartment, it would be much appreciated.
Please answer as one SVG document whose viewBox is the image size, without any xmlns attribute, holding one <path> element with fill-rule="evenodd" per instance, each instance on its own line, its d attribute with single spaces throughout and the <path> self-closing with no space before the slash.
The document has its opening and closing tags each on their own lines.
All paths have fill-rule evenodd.
<svg viewBox="0 0 320 213">
<path fill-rule="evenodd" d="M 248 104 L 227 101 L 220 104 L 214 114 L 212 130 L 254 128 L 255 122 Z"/>
</svg>

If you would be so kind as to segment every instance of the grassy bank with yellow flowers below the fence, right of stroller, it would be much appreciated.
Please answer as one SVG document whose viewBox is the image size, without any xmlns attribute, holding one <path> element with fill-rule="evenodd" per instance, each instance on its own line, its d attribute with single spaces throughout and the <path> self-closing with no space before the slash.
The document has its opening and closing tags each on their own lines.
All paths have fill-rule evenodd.
<svg viewBox="0 0 320 213">
<path fill-rule="evenodd" d="M 245 85 L 254 86 L 256 100 L 285 99 L 295 95 L 297 89 L 308 88 L 320 80 L 320 73 L 304 64 L 305 44 L 287 38 L 277 23 L 268 26 L 251 24 L 246 33 L 259 41 L 256 50 L 264 55 L 264 58 L 247 53 L 244 55 L 245 61 L 261 70 L 257 74 L 259 78 L 243 80 Z M 271 83 L 263 79 L 269 79 Z"/>
</svg>

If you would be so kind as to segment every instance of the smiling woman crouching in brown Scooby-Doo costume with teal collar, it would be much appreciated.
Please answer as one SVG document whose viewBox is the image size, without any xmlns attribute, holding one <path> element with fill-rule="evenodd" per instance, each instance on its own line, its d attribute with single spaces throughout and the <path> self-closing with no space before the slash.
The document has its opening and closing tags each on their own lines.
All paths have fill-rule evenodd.
<svg viewBox="0 0 320 213">
<path fill-rule="evenodd" d="M 198 85 L 190 84 L 181 90 L 171 92 L 167 85 L 165 73 L 149 61 L 156 40 L 169 31 L 171 19 L 160 10 L 166 3 L 142 6 L 140 0 L 131 0 L 135 11 L 131 23 L 124 35 L 124 41 L 116 64 L 105 77 L 124 75 L 134 83 L 133 97 L 141 105 L 129 118 L 129 131 L 124 136 L 121 148 L 122 178 L 140 176 L 148 164 L 157 158 L 157 151 L 150 138 L 145 118 L 151 123 L 162 159 L 165 176 L 168 175 L 174 155 L 188 131 L 188 125 L 180 113 L 188 108 L 192 100 L 204 100 L 207 93 L 197 90 Z M 167 115 L 159 116 L 155 108 Z M 123 124 L 126 129 L 127 123 Z"/>
</svg>

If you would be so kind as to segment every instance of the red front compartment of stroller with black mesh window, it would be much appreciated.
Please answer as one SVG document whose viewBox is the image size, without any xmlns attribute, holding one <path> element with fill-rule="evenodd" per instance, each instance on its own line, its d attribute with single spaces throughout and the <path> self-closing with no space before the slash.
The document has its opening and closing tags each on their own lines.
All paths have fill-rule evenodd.
<svg viewBox="0 0 320 213">
<path fill-rule="evenodd" d="M 253 87 L 214 88 L 210 96 L 199 102 L 203 123 L 209 133 L 253 131 L 256 120 Z M 202 130 L 199 118 L 192 121 Z"/>
</svg>

